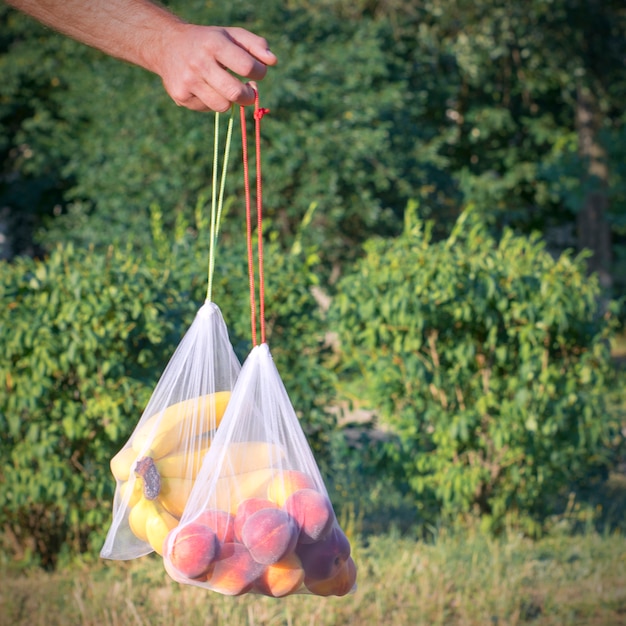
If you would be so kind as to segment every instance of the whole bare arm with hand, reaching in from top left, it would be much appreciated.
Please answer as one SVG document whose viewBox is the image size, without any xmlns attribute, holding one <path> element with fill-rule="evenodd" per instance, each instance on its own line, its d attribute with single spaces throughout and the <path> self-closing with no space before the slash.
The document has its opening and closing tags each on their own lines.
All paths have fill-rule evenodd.
<svg viewBox="0 0 626 626">
<path fill-rule="evenodd" d="M 276 57 L 243 28 L 189 24 L 149 0 L 7 0 L 88 46 L 161 77 L 170 97 L 196 111 L 252 104 L 237 76 L 262 79 Z M 228 70 L 231 70 L 230 72 Z"/>
</svg>

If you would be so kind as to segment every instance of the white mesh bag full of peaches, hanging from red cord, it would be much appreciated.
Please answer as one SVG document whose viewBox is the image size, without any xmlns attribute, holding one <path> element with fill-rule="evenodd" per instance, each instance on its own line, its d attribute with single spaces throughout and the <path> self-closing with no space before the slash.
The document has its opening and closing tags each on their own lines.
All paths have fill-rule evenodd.
<svg viewBox="0 0 626 626">
<path fill-rule="evenodd" d="M 350 542 L 267 344 L 246 359 L 180 524 L 170 576 L 225 595 L 345 595 Z"/>
</svg>

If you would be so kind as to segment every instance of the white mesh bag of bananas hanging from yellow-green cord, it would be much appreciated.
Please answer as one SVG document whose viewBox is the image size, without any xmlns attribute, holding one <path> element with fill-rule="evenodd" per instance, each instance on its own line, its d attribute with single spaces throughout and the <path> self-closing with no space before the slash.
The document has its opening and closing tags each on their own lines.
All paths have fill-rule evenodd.
<svg viewBox="0 0 626 626">
<path fill-rule="evenodd" d="M 224 415 L 241 366 L 207 301 L 172 355 L 134 432 L 111 460 L 113 520 L 100 556 L 162 553 Z"/>
</svg>

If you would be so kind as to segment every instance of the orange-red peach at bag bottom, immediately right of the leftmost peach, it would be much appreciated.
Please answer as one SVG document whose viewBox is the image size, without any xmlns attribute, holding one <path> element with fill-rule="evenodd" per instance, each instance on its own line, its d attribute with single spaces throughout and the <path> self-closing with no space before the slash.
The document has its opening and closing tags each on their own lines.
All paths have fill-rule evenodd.
<svg viewBox="0 0 626 626">
<path fill-rule="evenodd" d="M 240 543 L 225 543 L 206 576 L 207 585 L 226 596 L 239 596 L 252 589 L 265 566 L 257 563 Z"/>
</svg>

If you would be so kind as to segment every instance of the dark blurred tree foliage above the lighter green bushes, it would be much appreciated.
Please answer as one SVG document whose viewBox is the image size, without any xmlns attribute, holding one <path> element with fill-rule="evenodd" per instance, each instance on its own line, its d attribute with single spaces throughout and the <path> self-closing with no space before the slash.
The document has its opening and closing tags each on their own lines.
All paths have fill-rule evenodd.
<svg viewBox="0 0 626 626">
<path fill-rule="evenodd" d="M 621 3 L 168 4 L 190 21 L 245 26 L 278 54 L 261 85 L 272 111 L 266 212 L 288 249 L 317 205 L 307 243 L 319 248 L 325 282 L 358 256 L 355 244 L 398 234 L 410 199 L 428 207 L 438 236 L 467 202 L 498 226 L 573 224 L 594 184 L 579 156 L 582 87 L 599 103 L 607 219 L 622 242 Z M 166 225 L 189 218 L 210 180 L 211 116 L 172 106 L 158 78 L 6 7 L 0 19 L 0 204 L 44 247 L 120 240 L 141 249 L 152 202 Z M 237 162 L 232 174 L 236 198 Z"/>
</svg>

